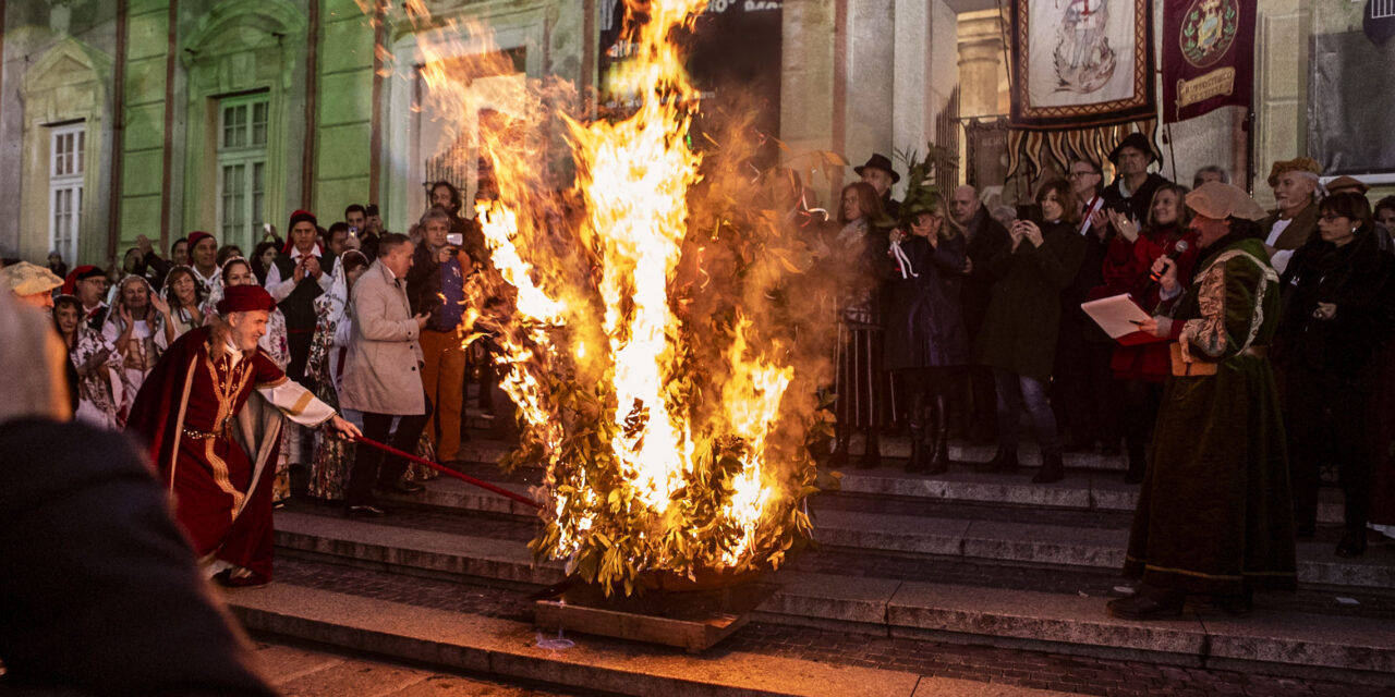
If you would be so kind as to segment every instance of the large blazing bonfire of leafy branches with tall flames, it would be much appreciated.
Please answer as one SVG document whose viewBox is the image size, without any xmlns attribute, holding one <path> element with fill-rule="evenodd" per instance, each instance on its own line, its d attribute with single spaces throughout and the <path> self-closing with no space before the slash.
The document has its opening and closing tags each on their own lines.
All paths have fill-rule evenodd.
<svg viewBox="0 0 1395 697">
<path fill-rule="evenodd" d="M 706 0 L 626 6 L 625 114 L 587 116 L 571 85 L 530 81 L 472 125 L 498 195 L 476 205 L 492 263 L 466 282 L 463 325 L 497 346 L 518 406 L 504 464 L 545 466 L 533 551 L 607 594 L 646 572 L 778 566 L 809 534 L 808 443 L 829 428 L 815 395 L 830 322 L 810 319 L 809 255 L 756 185 L 759 134 L 734 112 L 693 137 L 675 36 Z M 418 33 L 487 40 L 432 24 L 420 0 L 407 11 Z M 512 68 L 441 45 L 421 42 L 430 103 L 480 113 L 472 79 Z"/>
</svg>

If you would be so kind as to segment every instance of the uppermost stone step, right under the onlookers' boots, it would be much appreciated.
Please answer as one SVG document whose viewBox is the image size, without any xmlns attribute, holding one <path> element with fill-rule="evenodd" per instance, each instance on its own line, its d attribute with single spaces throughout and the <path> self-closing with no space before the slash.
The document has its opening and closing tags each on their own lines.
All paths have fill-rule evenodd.
<svg viewBox="0 0 1395 697">
<path fill-rule="evenodd" d="M 509 446 L 501 442 L 467 443 L 462 459 L 476 463 L 476 466 L 467 468 L 466 473 L 497 482 L 502 474 L 494 467 L 494 463 L 508 450 Z M 480 464 L 488 467 L 478 467 Z M 1032 484 L 1030 471 L 1018 474 L 975 473 L 972 464 L 965 463 L 963 457 L 954 457 L 950 471 L 937 475 L 908 474 L 901 467 L 901 461 L 890 460 L 872 470 L 847 468 L 843 471 L 838 493 L 1130 513 L 1138 505 L 1138 485 L 1124 484 L 1122 475 L 1116 473 L 1087 468 L 1067 470 L 1066 478 L 1059 482 Z M 513 478 L 537 482 L 541 480 L 541 470 L 523 470 L 516 473 Z M 467 485 L 460 484 L 460 487 Z M 497 513 L 508 512 L 504 510 L 504 503 L 488 503 L 483 500 L 483 496 L 492 495 L 480 491 L 478 495 L 472 496 L 472 502 L 488 506 Z M 460 506 L 448 505 L 448 507 Z M 526 506 L 519 507 L 519 510 L 523 509 Z M 1342 521 L 1342 493 L 1338 489 L 1327 487 L 1320 491 L 1318 521 L 1332 524 Z"/>
</svg>

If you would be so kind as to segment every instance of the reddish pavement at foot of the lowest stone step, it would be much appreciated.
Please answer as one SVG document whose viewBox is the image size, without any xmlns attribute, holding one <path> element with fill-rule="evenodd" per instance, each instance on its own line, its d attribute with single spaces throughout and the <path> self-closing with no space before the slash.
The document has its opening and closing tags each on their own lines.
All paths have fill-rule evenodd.
<svg viewBox="0 0 1395 697">
<path fill-rule="evenodd" d="M 548 697 L 580 696 L 519 687 L 484 677 L 442 673 L 352 657 L 324 648 L 257 641 L 257 662 L 286 697 Z"/>
</svg>

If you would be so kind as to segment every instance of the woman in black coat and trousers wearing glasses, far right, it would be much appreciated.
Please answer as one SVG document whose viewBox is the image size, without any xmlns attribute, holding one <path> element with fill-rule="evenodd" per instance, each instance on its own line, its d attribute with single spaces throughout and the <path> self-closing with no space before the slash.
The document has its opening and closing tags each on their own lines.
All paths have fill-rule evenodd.
<svg viewBox="0 0 1395 697">
<path fill-rule="evenodd" d="M 1392 261 L 1360 194 L 1318 206 L 1318 236 L 1283 273 L 1275 358 L 1285 378 L 1289 473 L 1299 537 L 1317 527 L 1318 468 L 1336 464 L 1346 499 L 1339 556 L 1366 551 L 1370 517 L 1373 355 L 1391 330 Z"/>
</svg>

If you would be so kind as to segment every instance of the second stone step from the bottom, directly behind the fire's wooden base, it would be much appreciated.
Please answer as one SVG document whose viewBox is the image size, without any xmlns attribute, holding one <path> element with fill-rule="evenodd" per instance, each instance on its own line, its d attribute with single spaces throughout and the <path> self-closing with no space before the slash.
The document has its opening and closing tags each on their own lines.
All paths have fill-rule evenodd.
<svg viewBox="0 0 1395 697">
<path fill-rule="evenodd" d="M 286 513 L 278 517 L 283 552 L 385 567 L 393 573 L 480 577 L 550 584 L 557 563 L 534 563 L 522 542 L 388 524 Z M 1395 671 L 1395 630 L 1387 618 L 1329 616 L 1286 609 L 1282 597 L 1257 599 L 1254 618 L 1230 620 L 1189 609 L 1179 620 L 1126 622 L 1105 613 L 1102 594 L 1042 592 L 914 580 L 781 570 L 781 588 L 756 619 L 1173 665 L 1286 675 Z M 1309 672 L 1315 671 L 1315 673 Z M 1387 675 L 1384 679 L 1391 679 Z"/>
</svg>

